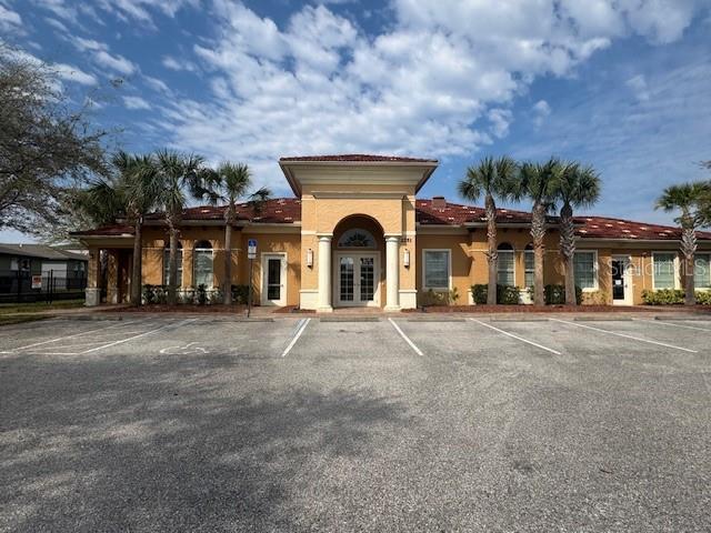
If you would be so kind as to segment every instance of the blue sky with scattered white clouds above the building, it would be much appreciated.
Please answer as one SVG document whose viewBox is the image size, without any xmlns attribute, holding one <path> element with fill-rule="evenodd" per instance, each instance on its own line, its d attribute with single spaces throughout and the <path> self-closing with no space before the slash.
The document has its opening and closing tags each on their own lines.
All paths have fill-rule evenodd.
<svg viewBox="0 0 711 533">
<path fill-rule="evenodd" d="M 664 187 L 711 178 L 710 30 L 711 0 L 0 0 L 110 150 L 246 162 L 276 195 L 282 155 L 437 158 L 419 197 L 453 202 L 484 155 L 555 155 L 600 173 L 590 212 L 662 223 Z"/>
</svg>

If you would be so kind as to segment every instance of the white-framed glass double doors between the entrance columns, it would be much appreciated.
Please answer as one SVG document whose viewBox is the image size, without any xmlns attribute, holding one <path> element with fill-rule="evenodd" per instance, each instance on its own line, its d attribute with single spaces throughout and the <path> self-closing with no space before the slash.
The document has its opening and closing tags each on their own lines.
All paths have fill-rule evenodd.
<svg viewBox="0 0 711 533">
<path fill-rule="evenodd" d="M 377 253 L 339 253 L 334 270 L 336 305 L 380 305 Z"/>
</svg>

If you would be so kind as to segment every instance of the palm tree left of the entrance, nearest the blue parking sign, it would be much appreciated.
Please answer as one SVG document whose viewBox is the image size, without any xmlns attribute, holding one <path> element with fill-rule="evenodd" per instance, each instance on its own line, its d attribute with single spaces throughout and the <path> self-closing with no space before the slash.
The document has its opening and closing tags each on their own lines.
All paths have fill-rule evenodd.
<svg viewBox="0 0 711 533">
<path fill-rule="evenodd" d="M 226 203 L 224 208 L 224 304 L 232 303 L 232 227 L 237 222 L 237 202 L 247 194 L 251 171 L 243 163 L 221 163 L 206 180 L 210 203 Z"/>
</svg>

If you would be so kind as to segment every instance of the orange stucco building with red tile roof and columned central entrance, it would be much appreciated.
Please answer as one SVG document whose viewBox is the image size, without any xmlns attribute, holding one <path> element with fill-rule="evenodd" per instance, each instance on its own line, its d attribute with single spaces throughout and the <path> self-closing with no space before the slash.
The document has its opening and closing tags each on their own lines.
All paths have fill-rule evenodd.
<svg viewBox="0 0 711 533">
<path fill-rule="evenodd" d="M 471 303 L 472 284 L 487 283 L 487 235 L 481 208 L 444 198 L 417 200 L 437 160 L 380 155 L 282 158 L 296 198 L 270 200 L 256 214 L 239 208 L 233 284 L 249 280 L 247 242 L 258 241 L 256 302 L 330 311 L 369 305 L 411 309 L 428 291 L 457 290 Z M 499 283 L 533 283 L 527 212 L 500 209 Z M 677 228 L 601 217 L 578 217 L 575 280 L 585 302 L 639 304 L 643 290 L 681 288 Z M 189 208 L 182 217 L 179 281 L 183 289 L 223 280 L 223 208 Z M 88 304 L 100 300 L 100 251 L 108 263 L 108 300 L 124 301 L 131 283 L 132 230 L 112 225 L 77 234 L 90 250 Z M 697 286 L 707 289 L 711 233 L 699 232 Z M 558 219 L 549 218 L 544 276 L 562 284 Z M 166 279 L 168 238 L 159 215 L 143 230 L 143 284 Z M 525 289 L 522 301 L 528 301 Z"/>
</svg>

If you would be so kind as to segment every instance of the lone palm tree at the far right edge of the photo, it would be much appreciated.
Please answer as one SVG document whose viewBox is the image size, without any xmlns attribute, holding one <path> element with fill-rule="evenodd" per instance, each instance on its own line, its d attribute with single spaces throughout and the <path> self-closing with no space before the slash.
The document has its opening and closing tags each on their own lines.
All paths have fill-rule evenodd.
<svg viewBox="0 0 711 533">
<path fill-rule="evenodd" d="M 704 209 L 711 194 L 711 185 L 705 181 L 695 181 L 670 185 L 657 200 L 654 209 L 667 212 L 680 211 L 674 221 L 681 225 L 681 253 L 684 257 L 684 304 L 697 303 L 694 293 L 694 254 L 697 253 L 697 228 L 702 223 Z"/>
</svg>

